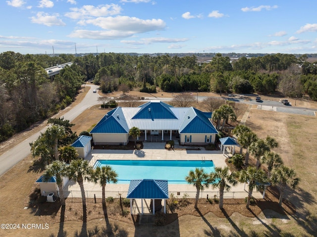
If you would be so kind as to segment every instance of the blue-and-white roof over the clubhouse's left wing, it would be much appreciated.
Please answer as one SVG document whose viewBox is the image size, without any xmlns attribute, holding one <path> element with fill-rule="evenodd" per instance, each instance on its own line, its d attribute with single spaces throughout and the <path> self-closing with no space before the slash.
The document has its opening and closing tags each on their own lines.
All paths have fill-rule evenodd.
<svg viewBox="0 0 317 237">
<path fill-rule="evenodd" d="M 117 107 L 109 111 L 90 133 L 129 133 L 129 127 L 122 108 Z"/>
</svg>

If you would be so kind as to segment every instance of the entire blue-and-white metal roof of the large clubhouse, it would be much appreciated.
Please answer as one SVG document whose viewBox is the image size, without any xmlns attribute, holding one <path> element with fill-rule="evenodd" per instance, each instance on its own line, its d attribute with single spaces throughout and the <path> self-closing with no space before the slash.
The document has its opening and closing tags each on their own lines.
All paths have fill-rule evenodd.
<svg viewBox="0 0 317 237">
<path fill-rule="evenodd" d="M 159 100 L 151 100 L 139 107 L 117 107 L 109 111 L 90 133 L 127 134 L 130 128 L 137 127 L 140 130 L 217 134 L 210 117 L 211 113 L 193 107 L 172 107 Z"/>
</svg>

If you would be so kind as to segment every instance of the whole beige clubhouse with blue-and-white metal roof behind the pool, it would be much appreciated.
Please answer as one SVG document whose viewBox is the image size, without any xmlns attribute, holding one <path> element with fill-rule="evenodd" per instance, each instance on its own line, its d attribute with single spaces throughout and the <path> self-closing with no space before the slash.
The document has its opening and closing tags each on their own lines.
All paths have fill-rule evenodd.
<svg viewBox="0 0 317 237">
<path fill-rule="evenodd" d="M 96 145 L 129 142 L 129 130 L 137 127 L 144 142 L 179 140 L 181 144 L 215 142 L 217 130 L 211 113 L 194 107 L 173 107 L 152 100 L 139 107 L 117 107 L 109 111 L 91 130 Z"/>
</svg>

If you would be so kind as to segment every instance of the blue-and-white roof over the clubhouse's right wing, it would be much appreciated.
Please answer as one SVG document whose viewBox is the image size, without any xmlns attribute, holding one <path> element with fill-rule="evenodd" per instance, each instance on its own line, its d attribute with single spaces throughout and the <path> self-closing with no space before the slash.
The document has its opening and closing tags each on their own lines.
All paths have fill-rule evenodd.
<svg viewBox="0 0 317 237">
<path fill-rule="evenodd" d="M 190 107 L 187 112 L 179 133 L 203 133 L 203 134 L 217 134 L 217 130 L 212 125 L 211 121 L 206 116 L 206 113 Z"/>
</svg>

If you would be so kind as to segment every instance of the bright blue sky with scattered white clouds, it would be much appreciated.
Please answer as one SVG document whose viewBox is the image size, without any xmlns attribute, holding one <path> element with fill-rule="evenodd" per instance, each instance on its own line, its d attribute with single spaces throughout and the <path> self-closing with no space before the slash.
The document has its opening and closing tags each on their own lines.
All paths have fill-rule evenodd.
<svg viewBox="0 0 317 237">
<path fill-rule="evenodd" d="M 1 0 L 0 52 L 317 53 L 315 0 Z"/>
</svg>

